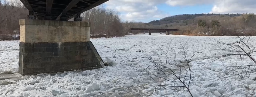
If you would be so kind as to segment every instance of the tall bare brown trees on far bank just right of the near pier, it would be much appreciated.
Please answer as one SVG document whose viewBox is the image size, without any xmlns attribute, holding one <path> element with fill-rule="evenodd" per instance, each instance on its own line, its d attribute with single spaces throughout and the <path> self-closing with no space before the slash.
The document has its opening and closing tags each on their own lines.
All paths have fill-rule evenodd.
<svg viewBox="0 0 256 97">
<path fill-rule="evenodd" d="M 109 37 L 124 36 L 124 28 L 118 11 L 105 9 L 103 5 L 81 14 L 83 21 L 91 23 L 91 34 L 107 34 Z"/>
</svg>

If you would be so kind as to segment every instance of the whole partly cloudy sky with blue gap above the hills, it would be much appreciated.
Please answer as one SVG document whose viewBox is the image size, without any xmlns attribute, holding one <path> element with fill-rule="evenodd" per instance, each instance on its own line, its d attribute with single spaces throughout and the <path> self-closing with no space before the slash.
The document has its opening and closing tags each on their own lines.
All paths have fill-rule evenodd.
<svg viewBox="0 0 256 97">
<path fill-rule="evenodd" d="M 256 13 L 256 0 L 109 0 L 104 5 L 121 12 L 124 21 L 149 22 L 195 13 Z"/>
</svg>

